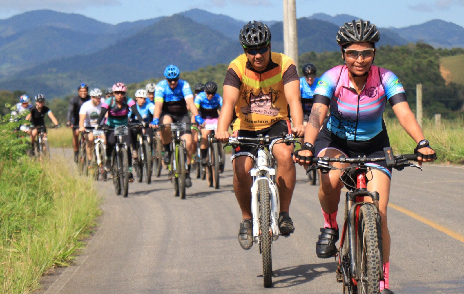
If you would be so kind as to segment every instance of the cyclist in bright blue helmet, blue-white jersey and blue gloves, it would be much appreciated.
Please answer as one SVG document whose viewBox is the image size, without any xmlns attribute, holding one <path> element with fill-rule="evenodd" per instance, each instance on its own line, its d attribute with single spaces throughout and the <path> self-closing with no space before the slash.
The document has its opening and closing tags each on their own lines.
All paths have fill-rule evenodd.
<svg viewBox="0 0 464 294">
<path fill-rule="evenodd" d="M 168 124 L 171 122 L 189 123 L 188 109 L 195 116 L 195 120 L 202 124 L 204 121 L 198 114 L 198 109 L 193 103 L 192 90 L 187 81 L 179 79 L 179 69 L 175 65 L 168 65 L 164 70 L 165 80 L 156 85 L 155 89 L 155 114 L 151 125 L 155 128 L 161 122 Z M 188 109 L 187 109 L 188 107 Z M 181 138 L 185 140 L 187 149 L 187 175 L 185 179 L 186 187 L 192 186 L 190 179 L 190 162 L 194 152 L 192 145 L 192 130 L 187 128 L 182 132 Z M 171 130 L 165 128 L 161 130 L 161 142 L 164 146 L 164 162 L 169 164 L 171 158 Z"/>
</svg>

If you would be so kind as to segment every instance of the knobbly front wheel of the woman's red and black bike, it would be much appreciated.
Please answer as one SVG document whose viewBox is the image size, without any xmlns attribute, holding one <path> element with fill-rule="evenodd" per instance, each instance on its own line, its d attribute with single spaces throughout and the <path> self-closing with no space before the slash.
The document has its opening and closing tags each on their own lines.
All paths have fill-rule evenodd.
<svg viewBox="0 0 464 294">
<path fill-rule="evenodd" d="M 359 277 L 358 293 L 379 293 L 380 250 L 376 221 L 372 205 L 361 205 L 359 209 L 356 240 L 356 271 Z"/>
</svg>

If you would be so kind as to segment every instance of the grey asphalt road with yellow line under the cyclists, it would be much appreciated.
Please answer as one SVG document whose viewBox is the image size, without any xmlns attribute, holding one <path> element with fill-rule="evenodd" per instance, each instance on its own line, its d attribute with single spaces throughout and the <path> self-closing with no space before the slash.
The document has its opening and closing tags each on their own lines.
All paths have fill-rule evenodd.
<svg viewBox="0 0 464 294">
<path fill-rule="evenodd" d="M 74 266 L 44 277 L 43 291 L 342 293 L 335 259 L 316 257 L 323 224 L 318 186 L 307 184 L 301 167 L 290 207 L 296 231 L 273 243 L 270 289 L 263 288 L 258 246 L 238 245 L 241 214 L 229 162 L 220 183 L 214 190 L 194 179 L 182 200 L 173 196 L 165 171 L 150 185 L 130 184 L 128 198 L 116 196 L 111 181 L 96 182 L 104 198 L 100 225 Z M 462 167 L 393 172 L 390 202 L 396 209 L 389 208 L 388 220 L 395 293 L 464 293 L 463 186 Z M 342 218 L 339 213 L 339 224 Z"/>
</svg>

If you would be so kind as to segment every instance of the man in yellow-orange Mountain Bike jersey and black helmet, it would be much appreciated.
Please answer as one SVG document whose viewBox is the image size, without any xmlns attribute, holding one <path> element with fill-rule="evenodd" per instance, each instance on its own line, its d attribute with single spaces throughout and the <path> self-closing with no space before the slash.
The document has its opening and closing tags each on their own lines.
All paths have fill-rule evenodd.
<svg viewBox="0 0 464 294">
<path fill-rule="evenodd" d="M 239 34 L 245 53 L 229 65 L 223 86 L 223 105 L 219 115 L 216 138 L 226 143 L 232 122 L 233 136 L 257 137 L 295 133 L 304 134 L 300 81 L 295 63 L 282 53 L 271 52 L 271 31 L 263 23 L 246 24 Z M 290 112 L 294 128 L 290 128 Z M 290 201 L 295 188 L 296 171 L 291 160 L 293 145 L 275 144 L 273 154 L 279 166 L 277 187 L 280 195 L 278 225 L 281 234 L 290 235 L 295 227 L 289 216 Z M 243 249 L 253 245 L 251 221 L 251 147 L 237 147 L 232 156 L 233 186 L 242 222 L 238 243 Z"/>
</svg>

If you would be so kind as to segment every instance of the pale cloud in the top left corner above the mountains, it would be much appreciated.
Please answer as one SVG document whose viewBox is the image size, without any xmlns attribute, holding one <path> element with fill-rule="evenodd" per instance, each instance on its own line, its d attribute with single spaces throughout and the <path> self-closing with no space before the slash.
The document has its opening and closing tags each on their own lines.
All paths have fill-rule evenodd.
<svg viewBox="0 0 464 294">
<path fill-rule="evenodd" d="M 2 10 L 31 11 L 36 9 L 82 10 L 96 6 L 120 5 L 119 0 L 2 0 Z"/>
</svg>

